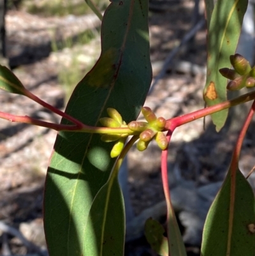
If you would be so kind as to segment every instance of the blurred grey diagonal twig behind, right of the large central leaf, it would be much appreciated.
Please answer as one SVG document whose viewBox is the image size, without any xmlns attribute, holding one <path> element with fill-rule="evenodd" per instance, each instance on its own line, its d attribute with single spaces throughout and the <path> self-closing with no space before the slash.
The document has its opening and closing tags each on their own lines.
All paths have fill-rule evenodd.
<svg viewBox="0 0 255 256">
<path fill-rule="evenodd" d="M 148 93 L 148 95 L 150 95 L 154 89 L 154 87 L 156 86 L 157 82 L 159 82 L 160 79 L 162 79 L 162 77 L 164 77 L 164 74 L 166 73 L 169 64 L 171 63 L 173 57 L 175 57 L 175 55 L 179 52 L 180 47 L 182 47 L 182 45 L 184 45 L 185 43 L 187 43 L 187 41 L 191 40 L 191 38 L 194 36 L 194 34 L 196 34 L 196 32 L 198 30 L 201 29 L 201 27 L 203 27 L 203 25 L 205 24 L 205 19 L 201 19 L 194 27 L 193 29 L 191 29 L 185 36 L 184 38 L 182 38 L 182 41 L 180 41 L 179 45 L 177 47 L 175 47 L 170 54 L 166 57 L 166 60 L 164 61 L 164 65 L 163 68 L 161 70 L 161 72 L 159 73 L 159 75 L 157 75 L 157 77 L 154 79 L 154 82 L 152 83 L 152 86 L 150 86 L 150 91 Z"/>
</svg>

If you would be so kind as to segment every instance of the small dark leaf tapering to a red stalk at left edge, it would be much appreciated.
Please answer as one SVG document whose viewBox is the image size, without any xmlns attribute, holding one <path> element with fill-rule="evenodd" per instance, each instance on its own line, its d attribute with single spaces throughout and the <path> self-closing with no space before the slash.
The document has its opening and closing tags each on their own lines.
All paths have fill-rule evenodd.
<svg viewBox="0 0 255 256">
<path fill-rule="evenodd" d="M 9 93 L 25 95 L 25 87 L 11 70 L 0 65 L 0 89 Z"/>
</svg>

